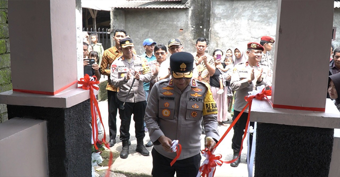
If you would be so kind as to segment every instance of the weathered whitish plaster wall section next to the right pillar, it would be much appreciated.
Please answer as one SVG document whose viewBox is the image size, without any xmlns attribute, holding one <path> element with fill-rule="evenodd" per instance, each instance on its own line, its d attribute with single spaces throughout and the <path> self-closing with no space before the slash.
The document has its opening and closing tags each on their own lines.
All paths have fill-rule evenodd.
<svg viewBox="0 0 340 177">
<path fill-rule="evenodd" d="M 277 0 L 213 0 L 209 54 L 247 47 L 261 36 L 275 38 Z M 273 54 L 273 50 L 271 51 Z M 272 55 L 273 56 L 273 55 Z"/>
</svg>

